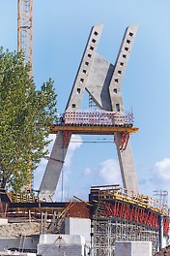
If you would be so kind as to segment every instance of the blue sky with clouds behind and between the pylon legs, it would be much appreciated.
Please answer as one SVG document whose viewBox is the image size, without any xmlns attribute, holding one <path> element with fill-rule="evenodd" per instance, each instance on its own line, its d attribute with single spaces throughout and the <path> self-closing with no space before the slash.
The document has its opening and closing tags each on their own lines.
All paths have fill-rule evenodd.
<svg viewBox="0 0 170 256">
<path fill-rule="evenodd" d="M 16 2 L 0 3 L 0 45 L 10 50 L 16 49 Z M 170 182 L 169 12 L 169 0 L 34 1 L 34 79 L 38 87 L 48 78 L 55 81 L 58 112 L 65 110 L 91 27 L 104 23 L 98 52 L 114 64 L 126 27 L 139 23 L 122 93 L 140 129 L 130 137 L 140 192 L 151 196 L 156 189 L 169 190 Z M 121 182 L 114 144 L 78 140 L 63 169 L 66 199 L 87 199 L 91 185 Z M 35 188 L 45 164 L 35 173 Z M 60 194 L 59 186 L 57 200 Z"/>
</svg>

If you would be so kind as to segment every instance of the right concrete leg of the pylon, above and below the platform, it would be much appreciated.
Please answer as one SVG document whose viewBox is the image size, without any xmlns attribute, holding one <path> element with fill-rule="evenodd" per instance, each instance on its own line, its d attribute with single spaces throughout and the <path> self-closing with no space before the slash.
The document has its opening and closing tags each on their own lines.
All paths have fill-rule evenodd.
<svg viewBox="0 0 170 256">
<path fill-rule="evenodd" d="M 138 24 L 129 26 L 127 28 L 121 48 L 117 56 L 113 77 L 109 86 L 113 112 L 121 112 L 124 114 L 124 104 L 123 104 L 123 97 L 121 92 L 121 83 L 125 75 L 125 70 L 128 64 L 129 53 L 133 45 L 137 28 L 138 28 Z M 123 185 L 128 190 L 139 192 L 130 141 L 128 140 L 128 146 L 126 150 L 121 151 L 119 149 L 121 140 L 122 140 L 120 133 L 117 133 L 117 132 L 115 133 L 115 139 L 116 139 L 118 158 L 119 158 L 119 163 L 121 168 L 121 174 L 123 178 Z"/>
</svg>

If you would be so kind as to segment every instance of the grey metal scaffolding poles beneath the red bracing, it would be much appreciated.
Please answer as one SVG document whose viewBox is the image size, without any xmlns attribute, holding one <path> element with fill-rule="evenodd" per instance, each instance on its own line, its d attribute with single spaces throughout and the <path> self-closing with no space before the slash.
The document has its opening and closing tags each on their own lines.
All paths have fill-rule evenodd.
<svg viewBox="0 0 170 256">
<path fill-rule="evenodd" d="M 115 241 L 152 241 L 153 255 L 158 248 L 158 230 L 119 218 L 92 220 L 92 255 L 113 256 Z"/>
</svg>

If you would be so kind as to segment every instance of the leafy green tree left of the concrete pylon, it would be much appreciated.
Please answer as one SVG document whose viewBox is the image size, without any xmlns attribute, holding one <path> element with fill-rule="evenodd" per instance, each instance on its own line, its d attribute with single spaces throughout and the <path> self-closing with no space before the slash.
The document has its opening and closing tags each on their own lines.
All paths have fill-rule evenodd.
<svg viewBox="0 0 170 256">
<path fill-rule="evenodd" d="M 56 113 L 53 80 L 37 90 L 21 53 L 0 48 L 0 186 L 15 192 L 29 184 Z"/>
</svg>

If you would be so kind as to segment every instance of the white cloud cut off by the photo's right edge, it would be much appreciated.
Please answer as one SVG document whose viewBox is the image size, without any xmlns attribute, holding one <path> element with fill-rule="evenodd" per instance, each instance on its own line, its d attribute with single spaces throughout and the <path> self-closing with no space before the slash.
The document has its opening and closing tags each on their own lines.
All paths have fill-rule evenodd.
<svg viewBox="0 0 170 256">
<path fill-rule="evenodd" d="M 156 162 L 156 176 L 164 181 L 170 180 L 170 158 L 164 158 L 160 162 Z"/>
</svg>

